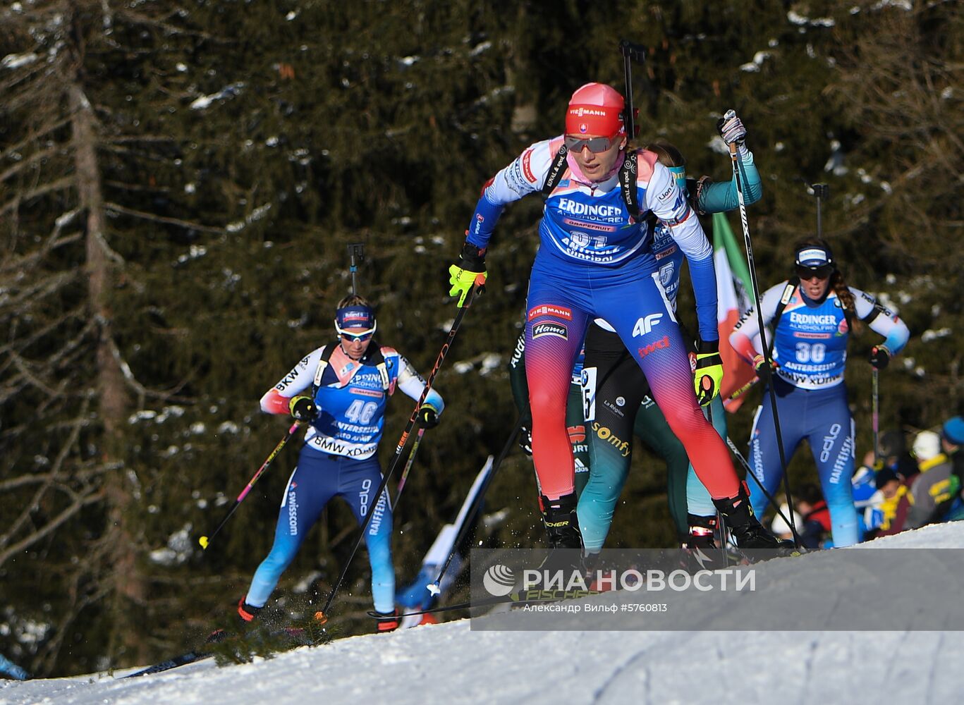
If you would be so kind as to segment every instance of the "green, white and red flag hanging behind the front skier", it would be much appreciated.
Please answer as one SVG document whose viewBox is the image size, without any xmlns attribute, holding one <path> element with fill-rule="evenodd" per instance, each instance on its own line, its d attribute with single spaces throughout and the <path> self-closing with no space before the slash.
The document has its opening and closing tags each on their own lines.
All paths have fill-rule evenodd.
<svg viewBox="0 0 964 705">
<path fill-rule="evenodd" d="M 723 359 L 723 406 L 731 413 L 743 404 L 745 392 L 756 381 L 753 368 L 730 347 L 730 333 L 736 322 L 753 305 L 750 271 L 736 245 L 730 222 L 722 213 L 713 214 L 713 265 L 716 268 L 716 321 Z M 736 394 L 736 399 L 731 399 Z"/>
</svg>

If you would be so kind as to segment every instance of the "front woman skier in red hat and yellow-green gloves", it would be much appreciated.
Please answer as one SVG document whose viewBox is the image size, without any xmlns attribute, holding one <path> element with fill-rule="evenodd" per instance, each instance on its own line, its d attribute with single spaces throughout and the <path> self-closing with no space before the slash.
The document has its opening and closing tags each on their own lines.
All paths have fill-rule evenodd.
<svg viewBox="0 0 964 705">
<path fill-rule="evenodd" d="M 566 132 L 525 149 L 485 186 L 457 265 L 449 268 L 458 305 L 485 280 L 485 251 L 506 204 L 544 192 L 541 247 L 529 280 L 526 377 L 532 407 L 532 455 L 543 519 L 553 548 L 582 548 L 576 516 L 566 398 L 576 353 L 591 318 L 619 334 L 650 380 L 656 404 L 683 442 L 713 504 L 740 548 L 778 547 L 754 517 L 726 445 L 697 402 L 719 392 L 712 248 L 672 173 L 656 154 L 627 149 L 623 96 L 603 84 L 577 90 Z M 701 341 L 696 379 L 683 335 L 659 279 L 647 217 L 665 222 L 689 262 Z"/>
</svg>

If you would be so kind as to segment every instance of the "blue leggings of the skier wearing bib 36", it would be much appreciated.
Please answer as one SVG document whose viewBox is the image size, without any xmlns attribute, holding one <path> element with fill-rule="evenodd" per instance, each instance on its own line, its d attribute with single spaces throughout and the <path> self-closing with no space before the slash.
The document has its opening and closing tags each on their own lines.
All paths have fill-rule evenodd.
<svg viewBox="0 0 964 705">
<path fill-rule="evenodd" d="M 853 419 L 846 403 L 846 387 L 838 384 L 830 389 L 800 389 L 776 378 L 780 431 L 784 454 L 790 462 L 793 452 L 804 438 L 817 463 L 817 475 L 823 488 L 823 499 L 830 509 L 830 522 L 835 546 L 850 546 L 860 537 L 857 532 L 857 509 L 853 505 Z M 773 407 L 769 390 L 763 390 L 763 405 L 757 412 L 750 436 L 750 467 L 753 474 L 773 495 L 783 469 L 773 426 Z M 758 515 L 766 509 L 766 496 L 757 483 L 749 482 L 750 503 Z"/>
</svg>

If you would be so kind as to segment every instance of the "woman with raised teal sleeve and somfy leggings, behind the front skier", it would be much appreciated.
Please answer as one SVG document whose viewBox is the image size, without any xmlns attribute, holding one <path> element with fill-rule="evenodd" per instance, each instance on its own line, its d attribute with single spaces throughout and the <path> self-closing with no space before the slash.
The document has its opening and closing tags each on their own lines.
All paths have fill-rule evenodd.
<svg viewBox="0 0 964 705">
<path fill-rule="evenodd" d="M 719 121 L 718 129 L 727 144 L 737 144 L 743 196 L 747 204 L 755 203 L 763 189 L 753 153 L 745 144 L 746 129 L 732 112 Z M 690 207 L 697 213 L 722 213 L 737 207 L 735 180 L 713 183 L 709 176 L 687 179 L 685 160 L 675 146 L 656 143 L 647 149 L 656 152 L 660 163 L 673 173 Z M 675 310 L 683 253 L 676 247 L 669 228 L 661 222 L 656 223 L 653 251 L 659 263 L 660 281 Z M 685 340 L 689 343 L 690 338 L 686 336 Z M 629 475 L 634 433 L 666 460 L 670 515 L 681 543 L 692 548 L 699 545 L 711 556 L 716 509 L 710 495 L 695 475 L 690 475 L 691 466 L 683 443 L 673 434 L 650 396 L 649 384 L 639 365 L 605 321 L 597 319 L 589 326 L 583 370 L 589 399 L 585 413 L 590 473 L 589 483 L 579 497 L 578 515 L 586 552 L 603 549 L 613 512 Z M 725 438 L 726 417 L 723 401 L 718 396 L 710 404 L 710 415 L 714 428 Z"/>
</svg>

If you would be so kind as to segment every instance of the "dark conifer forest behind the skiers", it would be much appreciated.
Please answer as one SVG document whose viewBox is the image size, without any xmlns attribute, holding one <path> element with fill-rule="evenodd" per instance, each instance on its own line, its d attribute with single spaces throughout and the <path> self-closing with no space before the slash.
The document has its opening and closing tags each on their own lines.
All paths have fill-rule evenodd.
<svg viewBox="0 0 964 705">
<path fill-rule="evenodd" d="M 38 675 L 89 672 L 179 652 L 229 618 L 270 546 L 296 449 L 203 556 L 197 537 L 283 435 L 257 401 L 332 338 L 346 246 L 365 245 L 360 289 L 382 341 L 427 373 L 480 186 L 561 132 L 578 86 L 623 89 L 623 38 L 648 47 L 634 67 L 641 142 L 669 140 L 691 174 L 727 179 L 716 118 L 735 108 L 746 123 L 763 174 L 749 213 L 763 286 L 815 232 L 807 184 L 829 184 L 824 232 L 849 283 L 886 295 L 912 331 L 881 375 L 882 428 L 958 412 L 959 3 L 5 2 L 0 653 Z M 397 508 L 399 584 L 515 421 L 506 363 L 540 205 L 503 216 L 488 292 L 436 381 L 442 425 Z M 851 344 L 858 459 L 877 340 Z M 730 419 L 741 446 L 753 394 Z M 386 460 L 410 413 L 404 397 L 390 405 Z M 798 484 L 816 481 L 808 456 L 793 461 Z M 663 468 L 637 446 L 613 546 L 673 544 Z M 488 507 L 505 511 L 490 540 L 541 539 L 521 451 Z M 333 505 L 276 596 L 327 594 L 351 525 Z M 349 632 L 370 629 L 367 581 L 360 556 L 335 603 Z"/>
</svg>

